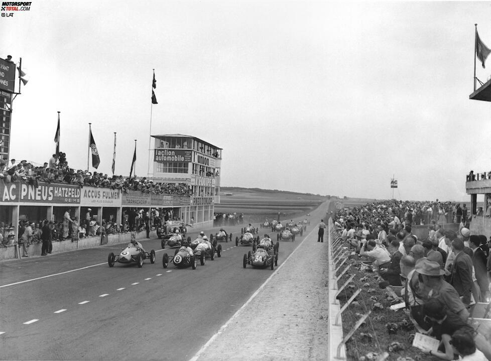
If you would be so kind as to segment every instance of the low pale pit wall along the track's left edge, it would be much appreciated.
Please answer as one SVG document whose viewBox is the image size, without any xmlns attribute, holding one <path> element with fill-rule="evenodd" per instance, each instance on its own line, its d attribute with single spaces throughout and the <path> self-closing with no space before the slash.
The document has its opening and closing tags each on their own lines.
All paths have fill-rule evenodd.
<svg viewBox="0 0 491 361">
<path fill-rule="evenodd" d="M 137 240 L 147 239 L 146 232 L 137 232 L 136 238 Z M 150 231 L 150 237 L 155 238 L 157 236 L 157 231 Z M 119 243 L 127 243 L 131 240 L 131 233 L 115 233 L 106 235 L 107 243 L 104 239 L 104 244 L 101 245 L 101 237 L 93 236 L 93 237 L 85 237 L 79 240 L 71 241 L 70 239 L 62 240 L 60 242 L 53 242 L 53 254 L 64 253 L 76 250 L 83 250 L 87 248 L 99 248 L 106 245 L 116 245 Z M 41 247 L 42 243 L 33 244 L 28 247 L 28 255 L 29 257 L 40 256 L 41 255 Z M 7 248 L 2 248 L 0 251 L 0 261 L 5 260 L 14 260 L 17 259 L 17 245 L 9 245 Z M 21 251 L 22 255 L 22 251 Z"/>
</svg>

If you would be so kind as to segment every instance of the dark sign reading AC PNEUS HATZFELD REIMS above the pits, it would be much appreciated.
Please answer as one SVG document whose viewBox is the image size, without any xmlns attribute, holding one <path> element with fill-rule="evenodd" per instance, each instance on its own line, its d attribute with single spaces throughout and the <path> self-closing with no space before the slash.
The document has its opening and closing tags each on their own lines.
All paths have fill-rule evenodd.
<svg viewBox="0 0 491 361">
<path fill-rule="evenodd" d="M 0 181 L 0 201 L 25 203 L 80 203 L 80 187 L 70 184 L 27 183 Z"/>
</svg>

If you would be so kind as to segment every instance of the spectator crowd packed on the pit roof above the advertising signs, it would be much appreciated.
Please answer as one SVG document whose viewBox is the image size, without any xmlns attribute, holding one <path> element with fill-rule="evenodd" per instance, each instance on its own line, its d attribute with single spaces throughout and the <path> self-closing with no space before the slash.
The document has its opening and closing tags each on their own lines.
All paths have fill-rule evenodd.
<svg viewBox="0 0 491 361">
<path fill-rule="evenodd" d="M 37 187 L 38 182 L 65 183 L 92 187 L 104 187 L 120 189 L 123 192 L 129 190 L 140 191 L 153 194 L 175 194 L 190 196 L 191 188 L 186 184 L 173 184 L 153 182 L 145 177 L 138 179 L 135 177 L 123 177 L 88 170 L 77 170 L 68 166 L 66 155 L 63 152 L 53 154 L 49 162 L 43 166 L 34 166 L 23 160 L 17 162 L 12 159 L 10 163 L 6 159 L 0 159 L 0 180 L 10 183 L 23 180 Z"/>
</svg>

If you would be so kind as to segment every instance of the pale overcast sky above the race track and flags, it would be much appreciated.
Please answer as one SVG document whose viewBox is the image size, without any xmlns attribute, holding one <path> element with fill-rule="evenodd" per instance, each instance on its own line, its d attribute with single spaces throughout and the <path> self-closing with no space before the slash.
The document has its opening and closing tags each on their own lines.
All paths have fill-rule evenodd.
<svg viewBox="0 0 491 361">
<path fill-rule="evenodd" d="M 491 104 L 473 91 L 474 24 L 488 2 L 33 1 L 0 18 L 0 57 L 22 57 L 11 158 L 61 149 L 87 168 L 88 123 L 110 174 L 148 169 L 152 134 L 223 148 L 222 186 L 470 200 L 491 170 Z M 486 81 L 491 59 L 477 77 Z M 152 145 L 153 147 L 153 145 Z M 91 169 L 93 171 L 94 169 Z"/>
</svg>

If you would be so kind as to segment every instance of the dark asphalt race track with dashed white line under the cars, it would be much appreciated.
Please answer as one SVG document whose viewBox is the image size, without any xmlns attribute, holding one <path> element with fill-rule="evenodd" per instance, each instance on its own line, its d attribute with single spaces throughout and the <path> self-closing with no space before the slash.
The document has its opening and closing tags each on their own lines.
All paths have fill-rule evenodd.
<svg viewBox="0 0 491 361">
<path fill-rule="evenodd" d="M 307 232 L 324 211 L 312 212 Z M 224 228 L 233 239 L 240 233 Z M 279 263 L 302 238 L 280 241 Z M 108 267 L 107 255 L 123 244 L 0 263 L 0 359 L 187 360 L 274 272 L 243 269 L 252 248 L 235 242 L 220 242 L 222 257 L 196 270 L 164 269 L 162 255 L 174 249 L 162 250 L 157 238 L 142 244 L 157 252 L 143 268 Z"/>
</svg>

